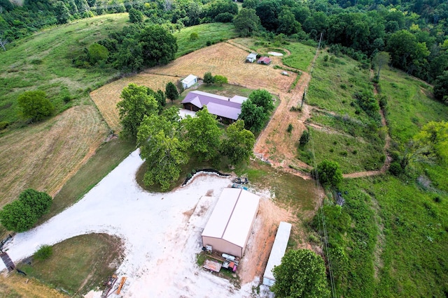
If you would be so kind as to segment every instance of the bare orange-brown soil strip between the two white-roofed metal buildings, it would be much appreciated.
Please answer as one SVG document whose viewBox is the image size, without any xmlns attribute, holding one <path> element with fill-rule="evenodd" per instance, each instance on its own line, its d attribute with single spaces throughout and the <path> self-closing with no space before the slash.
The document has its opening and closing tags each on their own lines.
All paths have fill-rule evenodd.
<svg viewBox="0 0 448 298">
<path fill-rule="evenodd" d="M 255 276 L 262 276 L 265 273 L 279 223 L 291 220 L 293 220 L 293 214 L 290 211 L 278 207 L 269 198 L 260 200 L 258 216 L 241 262 L 241 271 L 239 271 L 241 284 L 249 283 Z"/>
</svg>

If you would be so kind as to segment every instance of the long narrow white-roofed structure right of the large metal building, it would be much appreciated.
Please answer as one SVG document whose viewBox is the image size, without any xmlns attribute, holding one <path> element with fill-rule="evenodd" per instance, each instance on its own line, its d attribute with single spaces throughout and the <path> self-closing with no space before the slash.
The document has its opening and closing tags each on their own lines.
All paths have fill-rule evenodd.
<svg viewBox="0 0 448 298">
<path fill-rule="evenodd" d="M 263 285 L 268 285 L 272 287 L 275 283 L 274 274 L 272 269 L 274 266 L 279 266 L 281 264 L 281 258 L 285 255 L 286 246 L 288 246 L 289 234 L 291 232 L 291 224 L 280 222 L 279 230 L 275 235 L 274 245 L 272 245 L 271 254 L 269 255 L 269 260 L 267 260 L 265 274 L 263 275 Z"/>
</svg>

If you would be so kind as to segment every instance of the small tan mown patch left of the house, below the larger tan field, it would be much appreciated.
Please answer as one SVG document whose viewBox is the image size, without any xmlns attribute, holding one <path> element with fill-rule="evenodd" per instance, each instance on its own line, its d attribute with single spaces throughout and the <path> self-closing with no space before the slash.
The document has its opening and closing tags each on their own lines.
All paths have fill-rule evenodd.
<svg viewBox="0 0 448 298">
<path fill-rule="evenodd" d="M 181 77 L 174 77 L 168 75 L 151 75 L 148 73 L 139 73 L 132 77 L 125 77 L 121 80 L 116 80 L 110 84 L 106 84 L 103 87 L 92 91 L 90 97 L 97 105 L 99 112 L 106 120 L 109 127 L 117 132 L 121 130 L 120 119 L 118 117 L 117 103 L 121 100 L 120 94 L 123 88 L 127 87 L 130 83 L 146 86 L 148 88 L 157 91 L 161 89 L 165 92 L 165 86 L 168 82 L 174 82 L 180 80 Z"/>
</svg>

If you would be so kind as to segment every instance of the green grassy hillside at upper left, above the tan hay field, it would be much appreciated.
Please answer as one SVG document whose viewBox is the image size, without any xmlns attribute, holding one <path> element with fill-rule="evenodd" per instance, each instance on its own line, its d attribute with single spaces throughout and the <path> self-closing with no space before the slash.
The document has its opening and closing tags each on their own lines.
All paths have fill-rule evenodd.
<svg viewBox="0 0 448 298">
<path fill-rule="evenodd" d="M 15 41 L 0 53 L 0 121 L 18 121 L 17 98 L 29 90 L 45 91 L 55 112 L 91 103 L 88 92 L 102 86 L 118 71 L 111 68 L 75 68 L 71 60 L 84 47 L 125 26 L 127 13 L 78 20 L 66 26 L 39 31 Z M 64 103 L 70 96 L 71 103 Z"/>
</svg>

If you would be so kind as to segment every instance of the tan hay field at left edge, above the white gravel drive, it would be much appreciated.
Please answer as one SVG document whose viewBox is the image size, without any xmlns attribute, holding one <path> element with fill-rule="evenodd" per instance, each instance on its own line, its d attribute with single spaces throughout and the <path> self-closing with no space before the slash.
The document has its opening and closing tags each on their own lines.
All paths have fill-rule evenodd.
<svg viewBox="0 0 448 298">
<path fill-rule="evenodd" d="M 43 123 L 3 135 L 0 206 L 26 188 L 54 196 L 109 132 L 93 105 L 79 105 Z"/>
</svg>

